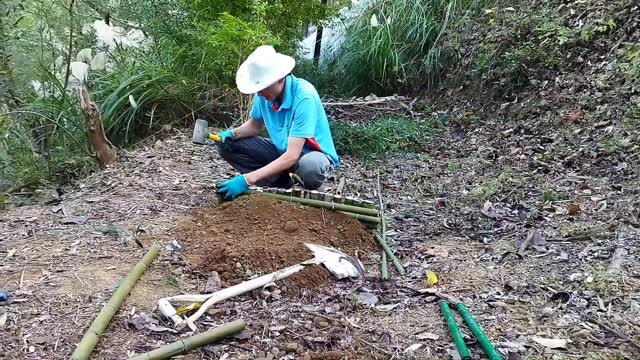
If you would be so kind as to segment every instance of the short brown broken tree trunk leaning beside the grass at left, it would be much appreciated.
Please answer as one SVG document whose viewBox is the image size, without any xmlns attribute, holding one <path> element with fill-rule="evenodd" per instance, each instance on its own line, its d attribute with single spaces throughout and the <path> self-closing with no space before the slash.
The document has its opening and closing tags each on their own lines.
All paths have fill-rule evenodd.
<svg viewBox="0 0 640 360">
<path fill-rule="evenodd" d="M 85 86 L 80 89 L 80 106 L 84 111 L 84 124 L 89 132 L 89 142 L 96 151 L 100 166 L 104 168 L 116 160 L 117 152 L 104 133 L 98 106 L 91 101 L 91 95 Z"/>
</svg>

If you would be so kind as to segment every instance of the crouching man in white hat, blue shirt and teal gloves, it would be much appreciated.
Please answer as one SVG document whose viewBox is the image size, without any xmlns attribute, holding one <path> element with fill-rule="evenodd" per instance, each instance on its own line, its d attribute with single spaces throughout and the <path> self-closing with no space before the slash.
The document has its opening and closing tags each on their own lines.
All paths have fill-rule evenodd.
<svg viewBox="0 0 640 360">
<path fill-rule="evenodd" d="M 218 134 L 218 152 L 242 175 L 218 185 L 234 199 L 249 186 L 288 188 L 290 172 L 304 187 L 318 189 L 340 166 L 320 96 L 311 83 L 291 75 L 292 57 L 263 45 L 240 66 L 238 90 L 256 94 L 250 118 Z M 267 129 L 270 139 L 259 136 Z"/>
</svg>

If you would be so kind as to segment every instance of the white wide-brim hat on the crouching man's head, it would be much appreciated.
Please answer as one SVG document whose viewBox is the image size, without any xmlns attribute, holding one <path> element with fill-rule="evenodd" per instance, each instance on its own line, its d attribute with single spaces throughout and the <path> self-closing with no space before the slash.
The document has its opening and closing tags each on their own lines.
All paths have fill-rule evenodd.
<svg viewBox="0 0 640 360">
<path fill-rule="evenodd" d="M 254 94 L 287 76 L 296 66 L 291 56 L 269 45 L 258 46 L 236 73 L 236 85 L 243 94 Z"/>
</svg>

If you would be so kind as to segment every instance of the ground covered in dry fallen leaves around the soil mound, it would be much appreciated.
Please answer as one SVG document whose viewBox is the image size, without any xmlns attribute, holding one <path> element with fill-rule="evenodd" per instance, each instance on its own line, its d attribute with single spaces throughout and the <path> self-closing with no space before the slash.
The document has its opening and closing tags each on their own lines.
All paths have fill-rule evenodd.
<svg viewBox="0 0 640 360">
<path fill-rule="evenodd" d="M 448 116 L 453 122 L 464 114 Z M 345 158 L 329 188 L 345 177 L 347 193 L 375 199 L 380 173 L 387 235 L 407 275 L 391 269 L 392 279 L 381 282 L 377 264 L 366 264 L 368 280 L 299 299 L 271 289 L 227 301 L 202 324 L 243 318 L 247 331 L 190 358 L 442 358 L 453 348 L 441 298 L 465 302 L 512 358 L 640 354 L 640 193 L 631 160 L 638 149 L 599 154 L 597 140 L 607 127 L 537 119 L 450 126 L 424 154 L 367 164 Z M 578 146 L 566 133 L 575 134 Z M 558 148 L 567 152 L 561 156 Z M 176 220 L 214 202 L 212 185 L 230 174 L 211 148 L 180 133 L 125 154 L 60 202 L 4 213 L 0 274 L 2 288 L 15 297 L 0 307 L 6 314 L 2 354 L 67 358 L 144 253 L 137 243 L 167 245 Z M 432 288 L 427 270 L 440 280 Z M 152 332 L 139 318 L 152 315 L 168 326 L 155 309 L 157 299 L 203 292 L 206 281 L 179 252 L 164 249 L 94 358 L 126 358 L 179 338 Z M 540 338 L 566 341 L 551 349 Z M 417 350 L 405 352 L 415 344 Z M 477 344 L 471 347 L 480 354 Z"/>
</svg>

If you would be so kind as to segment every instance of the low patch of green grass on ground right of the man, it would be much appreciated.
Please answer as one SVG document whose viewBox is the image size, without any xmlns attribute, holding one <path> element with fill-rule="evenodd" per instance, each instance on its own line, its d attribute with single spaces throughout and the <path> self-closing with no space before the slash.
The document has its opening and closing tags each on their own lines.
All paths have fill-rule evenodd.
<svg viewBox="0 0 640 360">
<path fill-rule="evenodd" d="M 408 118 L 387 118 L 364 125 L 336 121 L 331 128 L 340 154 L 364 159 L 423 151 L 434 132 L 431 122 Z"/>
</svg>

